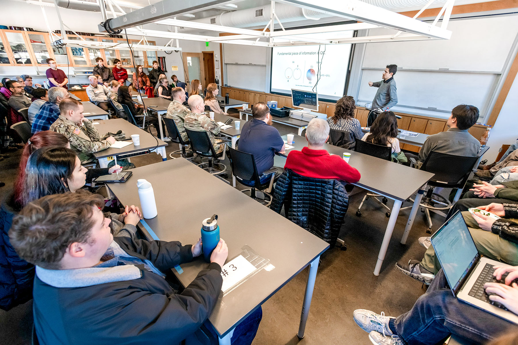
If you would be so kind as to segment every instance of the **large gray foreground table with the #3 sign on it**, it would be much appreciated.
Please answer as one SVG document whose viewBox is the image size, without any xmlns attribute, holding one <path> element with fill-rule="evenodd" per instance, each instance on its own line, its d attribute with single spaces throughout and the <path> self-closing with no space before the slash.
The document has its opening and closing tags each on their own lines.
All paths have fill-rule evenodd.
<svg viewBox="0 0 518 345">
<path fill-rule="evenodd" d="M 220 344 L 230 344 L 242 320 L 310 265 L 298 331 L 304 337 L 319 258 L 329 248 L 327 243 L 183 158 L 132 171 L 126 183 L 107 186 L 124 205 L 140 206 L 137 179 L 146 178 L 153 185 L 158 215 L 140 224 L 148 239 L 193 244 L 200 236 L 202 220 L 217 214 L 221 238 L 228 244 L 227 261 L 248 245 L 275 266 L 220 297 L 209 317 Z M 172 272 L 186 287 L 207 265 L 198 258 Z"/>
</svg>

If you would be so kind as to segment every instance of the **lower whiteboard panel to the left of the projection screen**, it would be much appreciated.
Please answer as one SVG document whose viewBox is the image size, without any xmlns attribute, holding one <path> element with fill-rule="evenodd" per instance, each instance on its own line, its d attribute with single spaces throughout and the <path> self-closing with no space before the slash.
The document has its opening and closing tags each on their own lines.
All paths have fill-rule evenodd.
<svg viewBox="0 0 518 345">
<path fill-rule="evenodd" d="M 226 65 L 225 84 L 254 91 L 265 91 L 266 66 Z"/>
</svg>

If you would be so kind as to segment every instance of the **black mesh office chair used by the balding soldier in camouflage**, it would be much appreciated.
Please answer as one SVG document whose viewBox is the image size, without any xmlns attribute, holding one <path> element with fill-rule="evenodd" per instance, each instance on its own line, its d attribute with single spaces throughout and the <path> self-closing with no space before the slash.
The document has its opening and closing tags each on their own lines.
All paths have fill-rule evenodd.
<svg viewBox="0 0 518 345">
<path fill-rule="evenodd" d="M 216 153 L 212 143 L 210 142 L 209 134 L 204 130 L 197 131 L 185 128 L 185 132 L 189 137 L 192 151 L 199 156 L 209 158 L 207 163 L 199 163 L 198 167 L 211 173 L 212 175 L 226 174 L 225 164 L 213 162 L 213 159 L 218 159 L 219 157 L 223 156 L 225 148 L 223 147 L 222 152 Z"/>
</svg>

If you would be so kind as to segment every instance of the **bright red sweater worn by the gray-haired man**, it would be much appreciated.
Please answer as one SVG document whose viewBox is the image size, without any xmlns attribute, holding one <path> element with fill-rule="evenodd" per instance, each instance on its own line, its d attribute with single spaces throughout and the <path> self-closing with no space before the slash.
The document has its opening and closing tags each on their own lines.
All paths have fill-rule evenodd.
<svg viewBox="0 0 518 345">
<path fill-rule="evenodd" d="M 284 169 L 313 178 L 336 178 L 350 183 L 358 182 L 358 170 L 351 167 L 342 157 L 330 155 L 325 149 L 313 150 L 304 147 L 302 151 L 291 151 Z"/>
</svg>

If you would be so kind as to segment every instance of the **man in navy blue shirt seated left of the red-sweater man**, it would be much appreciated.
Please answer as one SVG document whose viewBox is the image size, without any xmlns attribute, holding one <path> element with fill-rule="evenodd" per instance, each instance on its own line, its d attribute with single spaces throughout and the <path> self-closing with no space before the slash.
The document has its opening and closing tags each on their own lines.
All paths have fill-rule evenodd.
<svg viewBox="0 0 518 345">
<path fill-rule="evenodd" d="M 276 152 L 284 153 L 284 141 L 281 134 L 271 126 L 270 109 L 264 102 L 254 104 L 251 121 L 243 125 L 239 138 L 239 151 L 254 155 L 257 172 L 260 174 L 261 183 L 268 179 L 263 172 L 274 166 Z M 277 168 L 276 177 L 279 177 L 284 169 Z M 271 176 L 271 175 L 270 175 Z"/>
</svg>

